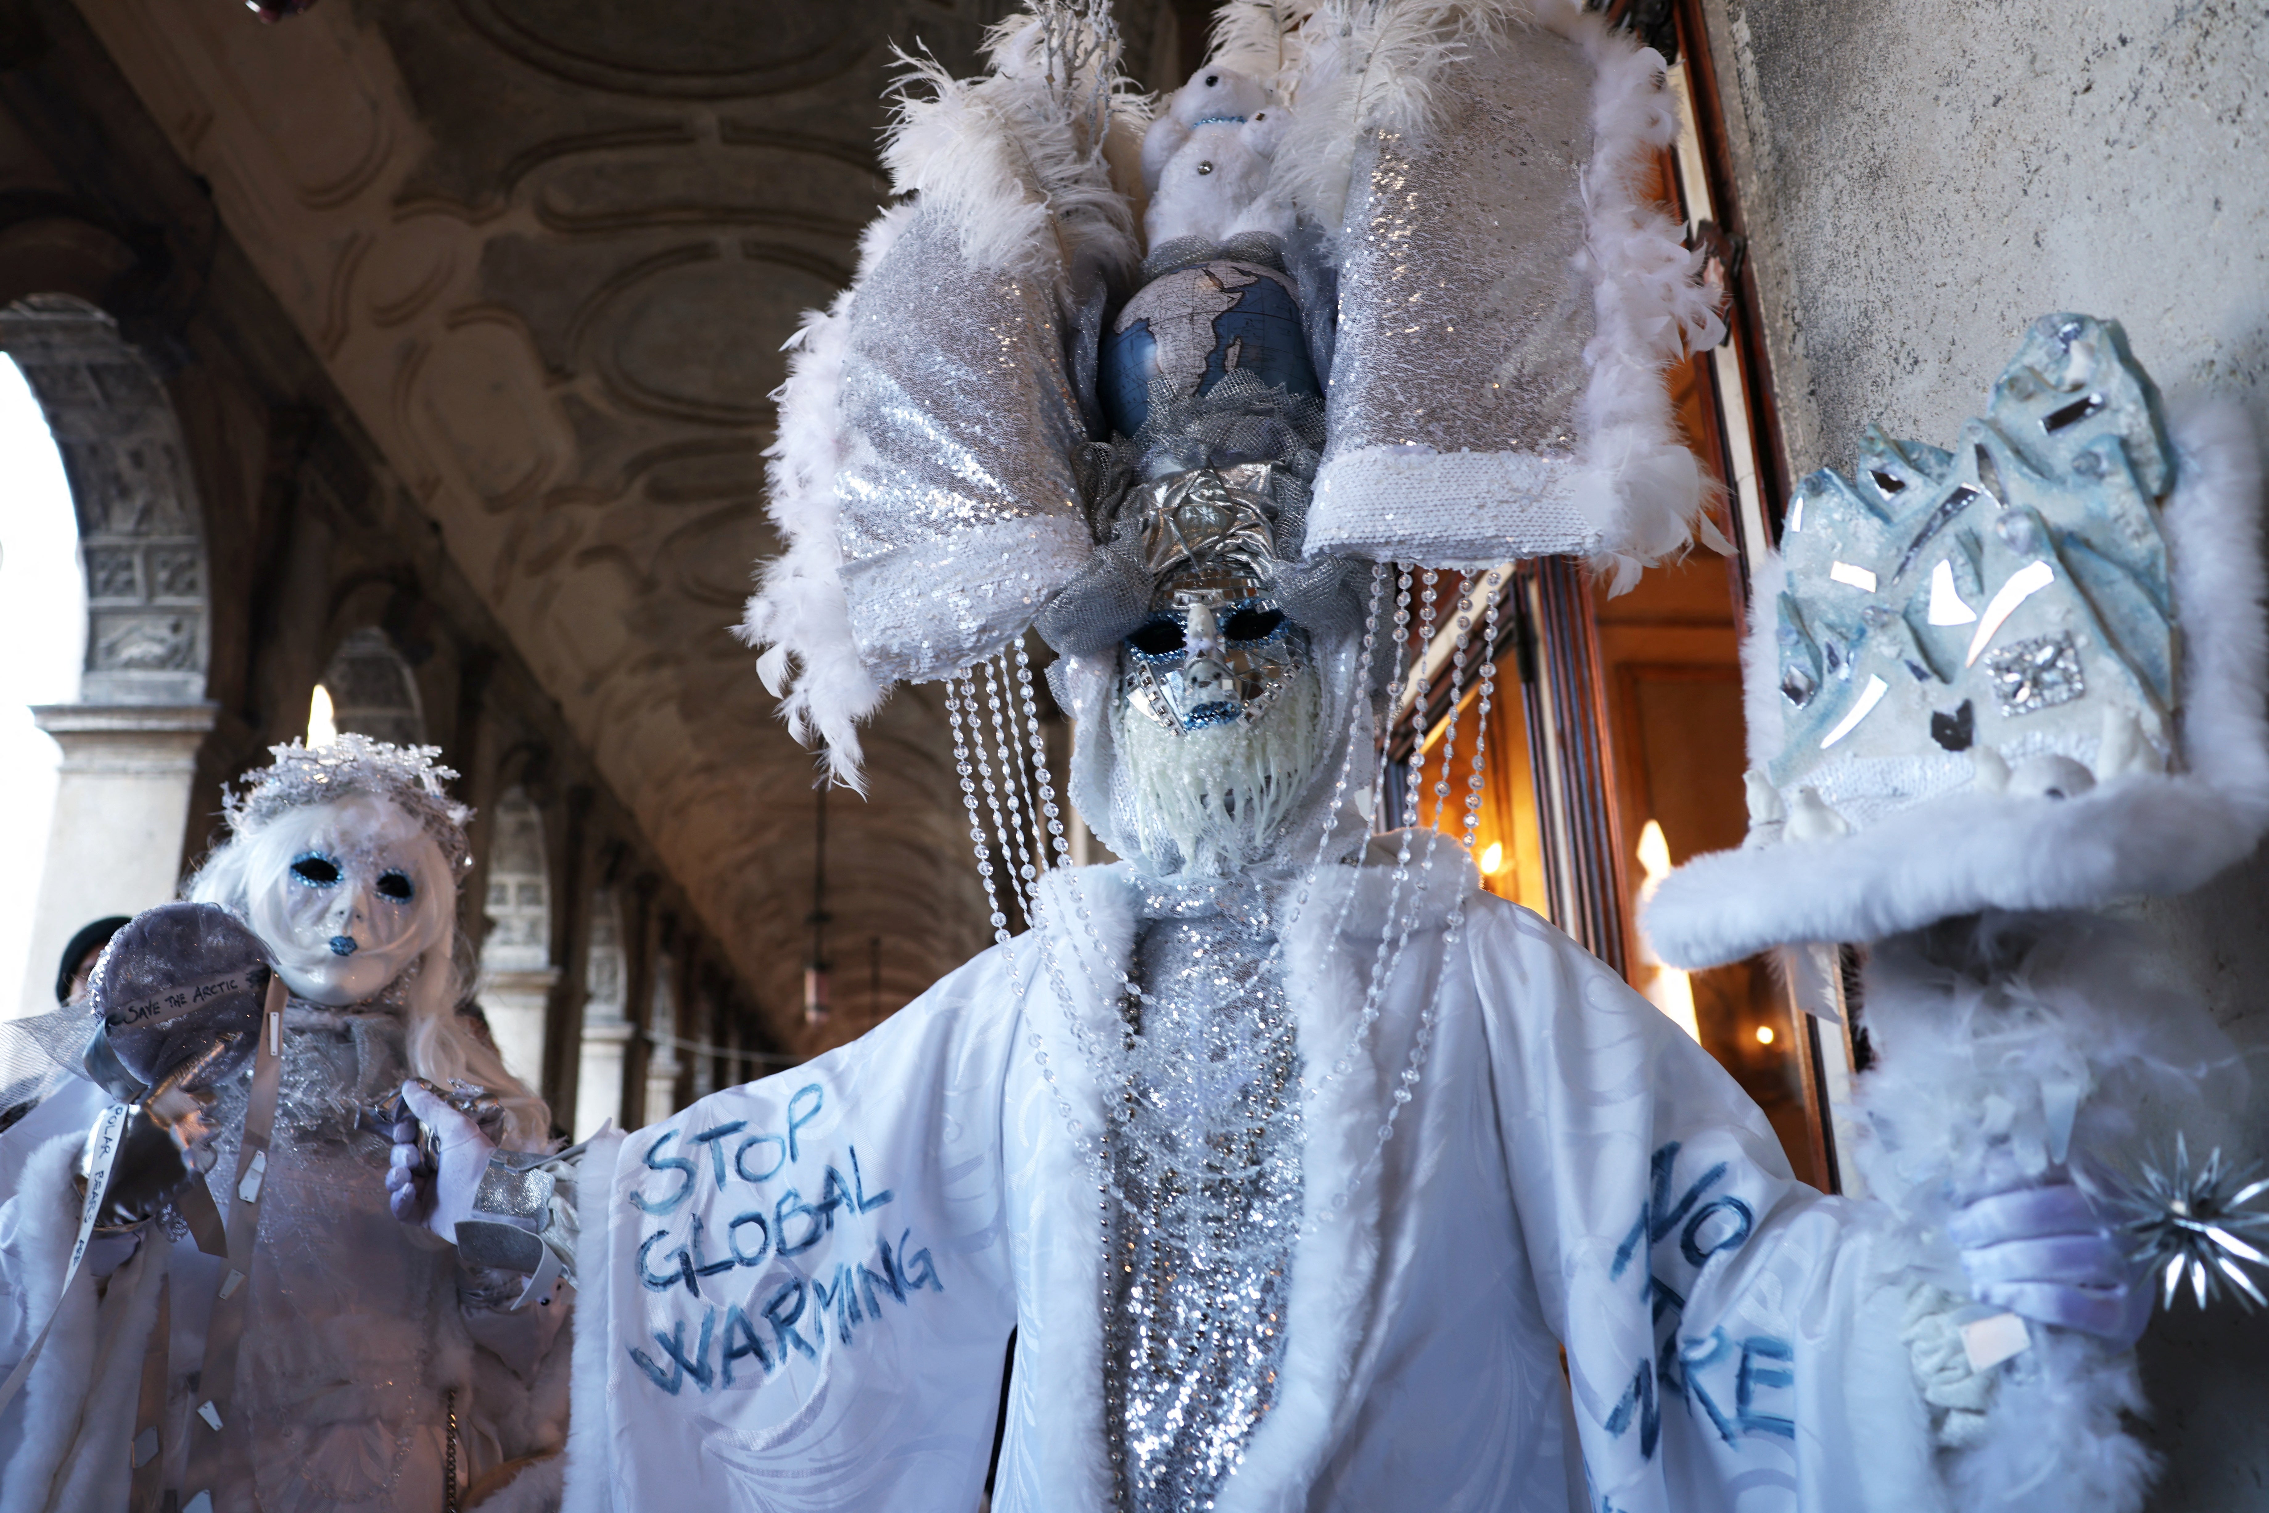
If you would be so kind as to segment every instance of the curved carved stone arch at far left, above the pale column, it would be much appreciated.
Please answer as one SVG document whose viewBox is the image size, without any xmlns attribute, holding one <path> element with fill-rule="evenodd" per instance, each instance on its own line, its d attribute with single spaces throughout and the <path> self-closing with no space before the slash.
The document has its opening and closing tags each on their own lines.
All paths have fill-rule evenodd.
<svg viewBox="0 0 2269 1513">
<path fill-rule="evenodd" d="M 86 572 L 79 703 L 193 705 L 211 656 L 202 510 L 182 424 L 118 322 L 68 295 L 0 311 L 0 352 L 48 413 Z"/>
</svg>

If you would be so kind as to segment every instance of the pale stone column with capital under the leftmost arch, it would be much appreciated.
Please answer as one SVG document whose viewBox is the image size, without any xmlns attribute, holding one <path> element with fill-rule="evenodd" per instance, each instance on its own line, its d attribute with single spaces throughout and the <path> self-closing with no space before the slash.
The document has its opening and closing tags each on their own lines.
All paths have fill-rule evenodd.
<svg viewBox="0 0 2269 1513">
<path fill-rule="evenodd" d="M 32 721 L 64 749 L 20 1003 L 54 1005 L 54 966 L 79 925 L 170 903 L 197 746 L 213 703 L 48 703 Z"/>
</svg>

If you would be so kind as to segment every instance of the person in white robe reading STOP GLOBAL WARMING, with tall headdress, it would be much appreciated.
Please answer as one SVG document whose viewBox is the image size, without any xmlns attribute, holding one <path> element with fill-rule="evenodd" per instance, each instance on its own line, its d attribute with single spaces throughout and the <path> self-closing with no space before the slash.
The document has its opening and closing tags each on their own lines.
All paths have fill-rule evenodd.
<svg viewBox="0 0 2269 1513">
<path fill-rule="evenodd" d="M 996 1508 L 1951 1506 L 1929 1393 L 2004 1411 L 1935 1350 L 1960 1266 L 1926 1291 L 1897 1214 L 1797 1184 L 1484 894 L 1477 794 L 1464 844 L 1448 780 L 1370 832 L 1429 683 L 1482 771 L 1498 565 L 1686 540 L 1661 365 L 1718 322 L 1631 191 L 1661 59 L 1572 5 L 1234 5 L 1150 120 L 1098 0 L 914 82 L 908 202 L 781 395 L 749 633 L 846 783 L 883 690 L 946 683 L 996 944 L 513 1177 L 404 1093 L 461 1245 L 574 1184 L 522 1205 L 581 1288 L 570 1499 L 967 1513 L 1014 1332 Z M 1116 864 L 1069 867 L 1028 631 Z M 2128 1336 L 2108 1227 L 2028 1191 L 1958 1205 L 2022 1293 L 1985 1313 Z"/>
</svg>

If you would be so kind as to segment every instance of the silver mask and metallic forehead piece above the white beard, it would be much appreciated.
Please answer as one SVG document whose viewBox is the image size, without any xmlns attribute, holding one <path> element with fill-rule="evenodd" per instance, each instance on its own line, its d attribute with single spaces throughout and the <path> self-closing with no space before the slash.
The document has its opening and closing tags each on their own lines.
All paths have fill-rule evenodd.
<svg viewBox="0 0 2269 1513">
<path fill-rule="evenodd" d="M 1128 703 L 1189 735 L 1250 726 L 1307 660 L 1307 635 L 1275 603 L 1268 465 L 1198 470 L 1150 483 L 1141 510 L 1150 619 L 1125 637 Z"/>
</svg>

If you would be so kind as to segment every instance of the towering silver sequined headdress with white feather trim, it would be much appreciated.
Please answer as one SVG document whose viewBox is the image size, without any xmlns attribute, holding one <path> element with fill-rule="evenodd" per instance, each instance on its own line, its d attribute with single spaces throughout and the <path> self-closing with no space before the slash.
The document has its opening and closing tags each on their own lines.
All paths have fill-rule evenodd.
<svg viewBox="0 0 2269 1513">
<path fill-rule="evenodd" d="M 855 726 L 892 683 L 951 678 L 1035 624 L 1125 633 L 1105 622 L 1148 583 L 1107 558 L 1130 495 L 1171 472 L 1280 463 L 1296 565 L 1577 553 L 1627 574 L 1686 544 L 1702 479 L 1663 365 L 1722 327 L 1636 188 L 1677 132 L 1661 57 L 1575 0 L 1230 5 L 1218 36 L 1216 64 L 1287 116 L 1275 222 L 1148 259 L 1150 107 L 1107 7 L 1035 0 L 976 82 L 914 70 L 928 98 L 901 98 L 885 147 L 908 202 L 778 392 L 785 553 L 744 622 L 837 778 L 858 783 Z M 1198 293 L 1243 324 L 1214 327 L 1196 388 L 1144 406 L 1137 379 L 1148 422 L 1121 436 L 1107 347 L 1169 279 L 1212 279 Z M 1148 318 L 1173 340 L 1209 320 Z M 1255 340 L 1305 352 L 1255 367 Z M 1318 603 L 1339 576 L 1309 569 Z"/>
</svg>

